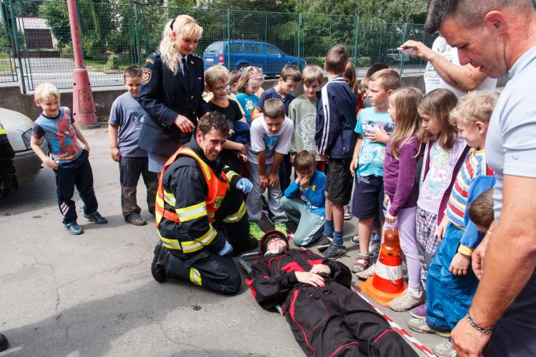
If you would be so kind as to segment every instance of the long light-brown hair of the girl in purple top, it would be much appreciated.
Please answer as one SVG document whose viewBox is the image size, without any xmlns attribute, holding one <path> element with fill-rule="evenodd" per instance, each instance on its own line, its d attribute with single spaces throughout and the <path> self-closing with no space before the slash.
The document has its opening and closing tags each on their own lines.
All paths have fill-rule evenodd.
<svg viewBox="0 0 536 357">
<path fill-rule="evenodd" d="M 421 118 L 417 111 L 421 99 L 422 91 L 415 87 L 397 89 L 389 97 L 389 101 L 394 103 L 397 114 L 389 144 L 392 148 L 392 154 L 397 160 L 399 160 L 400 146 L 409 144 L 412 135 L 417 133 L 421 126 Z"/>
</svg>

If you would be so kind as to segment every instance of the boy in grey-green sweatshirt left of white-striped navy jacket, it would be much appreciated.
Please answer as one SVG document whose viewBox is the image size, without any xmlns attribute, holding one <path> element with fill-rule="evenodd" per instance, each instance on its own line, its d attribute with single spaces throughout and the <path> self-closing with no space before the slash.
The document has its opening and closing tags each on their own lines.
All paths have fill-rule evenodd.
<svg viewBox="0 0 536 357">
<path fill-rule="evenodd" d="M 294 123 L 294 134 L 290 141 L 290 162 L 294 164 L 294 156 L 298 151 L 307 150 L 314 154 L 317 167 L 324 171 L 324 161 L 317 154 L 317 143 L 314 142 L 314 129 L 317 121 L 317 91 L 322 88 L 324 74 L 319 66 L 306 66 L 302 71 L 304 93 L 289 105 L 289 118 Z"/>
</svg>

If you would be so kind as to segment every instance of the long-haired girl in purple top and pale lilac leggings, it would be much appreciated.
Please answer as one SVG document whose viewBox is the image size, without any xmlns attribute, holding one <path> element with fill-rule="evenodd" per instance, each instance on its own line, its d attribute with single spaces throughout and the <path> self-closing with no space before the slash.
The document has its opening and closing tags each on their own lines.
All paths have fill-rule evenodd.
<svg viewBox="0 0 536 357">
<path fill-rule="evenodd" d="M 421 119 L 417 112 L 422 91 L 414 87 L 398 89 L 389 97 L 388 113 L 394 131 L 387 143 L 383 166 L 385 226 L 398 228 L 400 247 L 406 256 L 409 288 L 389 303 L 394 311 L 407 311 L 425 302 L 420 283 L 420 261 L 415 240 L 415 213 L 419 187 L 415 179 L 420 141 L 417 131 Z"/>
</svg>

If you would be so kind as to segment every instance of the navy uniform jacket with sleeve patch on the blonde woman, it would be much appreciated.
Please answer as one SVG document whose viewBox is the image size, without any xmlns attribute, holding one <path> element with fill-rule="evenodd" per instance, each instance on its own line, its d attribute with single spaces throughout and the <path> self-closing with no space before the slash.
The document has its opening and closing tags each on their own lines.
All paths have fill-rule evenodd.
<svg viewBox="0 0 536 357">
<path fill-rule="evenodd" d="M 152 53 L 145 61 L 142 88 L 138 101 L 149 114 L 139 135 L 139 146 L 151 154 L 172 156 L 177 150 L 181 135 L 174 124 L 177 115 L 186 116 L 197 126 L 197 118 L 209 111 L 202 99 L 204 91 L 203 61 L 194 54 L 187 57 L 188 81 L 179 70 L 174 75 L 162 62 L 160 52 Z M 184 138 L 181 140 L 183 143 Z"/>
</svg>

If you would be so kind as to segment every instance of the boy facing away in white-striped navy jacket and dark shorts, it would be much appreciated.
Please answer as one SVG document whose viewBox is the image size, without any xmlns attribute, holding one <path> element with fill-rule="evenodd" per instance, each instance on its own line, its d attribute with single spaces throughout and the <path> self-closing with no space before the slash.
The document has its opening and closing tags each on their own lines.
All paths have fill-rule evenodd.
<svg viewBox="0 0 536 357">
<path fill-rule="evenodd" d="M 342 45 L 327 51 L 324 69 L 327 84 L 317 92 L 317 125 L 314 140 L 320 159 L 328 162 L 326 181 L 326 224 L 318 248 L 325 258 L 335 259 L 346 253 L 342 241 L 344 205 L 352 195 L 352 176 L 349 175 L 352 149 L 356 135 L 355 109 L 357 99 L 342 74 L 349 54 Z"/>
</svg>

